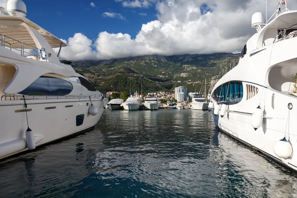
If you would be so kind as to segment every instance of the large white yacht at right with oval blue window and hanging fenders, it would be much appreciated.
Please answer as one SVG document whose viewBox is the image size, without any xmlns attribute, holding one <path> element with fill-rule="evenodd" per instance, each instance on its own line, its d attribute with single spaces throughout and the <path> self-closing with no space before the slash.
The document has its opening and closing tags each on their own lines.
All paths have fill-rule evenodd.
<svg viewBox="0 0 297 198">
<path fill-rule="evenodd" d="M 283 9 L 284 10 L 281 10 Z M 266 23 L 256 12 L 255 33 L 236 67 L 214 86 L 209 109 L 223 132 L 297 171 L 297 10 L 281 0 Z"/>
</svg>

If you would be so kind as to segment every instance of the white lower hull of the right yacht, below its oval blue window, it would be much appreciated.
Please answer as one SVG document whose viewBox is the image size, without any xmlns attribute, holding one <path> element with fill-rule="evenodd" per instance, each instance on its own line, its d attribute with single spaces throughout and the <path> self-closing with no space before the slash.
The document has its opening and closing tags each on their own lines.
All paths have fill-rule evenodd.
<svg viewBox="0 0 297 198">
<path fill-rule="evenodd" d="M 262 109 L 264 111 L 263 121 L 258 129 L 254 129 L 251 125 L 252 112 L 259 105 L 262 93 L 261 88 L 258 88 L 259 94 L 252 99 L 229 105 L 224 116 L 220 115 L 220 113 L 215 115 L 212 109 L 215 125 L 220 131 L 230 135 L 239 142 L 297 171 L 297 154 L 294 152 L 294 150 L 297 150 L 297 133 L 295 130 L 296 125 L 292 124 L 297 118 L 297 111 L 293 107 L 290 110 L 289 116 L 288 109 L 288 104 L 290 103 L 293 106 L 294 104 L 295 106 L 297 105 L 297 97 L 265 88 L 260 105 L 264 107 L 264 104 L 266 104 L 265 109 Z M 250 106 L 253 106 L 254 109 L 251 109 Z M 288 158 L 278 157 L 274 152 L 274 146 L 284 137 L 287 140 L 290 139 L 289 142 L 293 149 L 293 153 Z"/>
</svg>

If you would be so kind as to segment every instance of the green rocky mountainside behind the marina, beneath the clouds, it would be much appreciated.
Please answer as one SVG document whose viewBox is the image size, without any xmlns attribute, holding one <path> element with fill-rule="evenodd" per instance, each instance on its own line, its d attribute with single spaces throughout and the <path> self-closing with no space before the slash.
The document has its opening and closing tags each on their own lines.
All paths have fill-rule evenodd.
<svg viewBox="0 0 297 198">
<path fill-rule="evenodd" d="M 185 86 L 189 92 L 199 90 L 201 82 L 217 75 L 239 54 L 184 54 L 145 55 L 110 60 L 74 61 L 72 66 L 91 80 L 97 89 L 107 91 L 143 93 L 169 91 L 176 86 Z"/>
</svg>

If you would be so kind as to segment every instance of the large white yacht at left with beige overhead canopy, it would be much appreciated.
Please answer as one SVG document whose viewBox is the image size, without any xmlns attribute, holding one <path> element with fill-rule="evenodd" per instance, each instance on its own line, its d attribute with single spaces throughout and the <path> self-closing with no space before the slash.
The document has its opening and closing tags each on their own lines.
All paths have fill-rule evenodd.
<svg viewBox="0 0 297 198">
<path fill-rule="evenodd" d="M 95 126 L 106 99 L 52 48 L 66 44 L 26 17 L 22 0 L 0 7 L 0 158 Z"/>
</svg>

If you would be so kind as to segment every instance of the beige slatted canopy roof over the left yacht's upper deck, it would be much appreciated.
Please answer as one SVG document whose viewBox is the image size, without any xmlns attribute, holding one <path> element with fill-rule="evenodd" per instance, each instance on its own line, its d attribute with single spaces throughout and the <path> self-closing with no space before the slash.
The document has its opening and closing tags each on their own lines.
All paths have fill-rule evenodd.
<svg viewBox="0 0 297 198">
<path fill-rule="evenodd" d="M 62 47 L 67 46 L 66 43 L 64 43 L 63 41 L 61 41 L 60 39 L 58 39 L 54 35 L 50 34 L 47 30 L 43 29 L 42 27 L 40 27 L 36 23 L 33 23 L 32 21 L 30 21 L 29 19 L 27 19 L 25 17 L 19 17 L 19 16 L 0 15 L 0 34 L 2 36 L 4 36 L 4 35 L 8 36 L 8 37 L 10 37 L 12 39 L 18 40 L 18 41 L 20 41 L 22 43 L 29 44 L 29 45 L 36 48 L 36 45 L 35 45 L 35 42 L 34 42 L 33 38 L 31 37 L 28 30 L 24 26 L 22 26 L 22 25 L 13 25 L 13 24 L 10 24 L 10 23 L 7 24 L 7 23 L 4 23 L 4 21 L 16 21 L 16 22 L 20 21 L 20 22 L 24 22 L 24 23 L 32 26 L 38 32 L 40 32 L 40 34 L 47 40 L 47 42 L 49 43 L 51 48 L 59 48 L 61 44 L 62 44 Z M 8 39 L 8 41 L 7 41 L 7 39 L 5 38 L 5 43 L 11 44 L 11 46 L 13 48 L 19 48 L 20 43 L 15 42 L 12 39 Z"/>
</svg>

